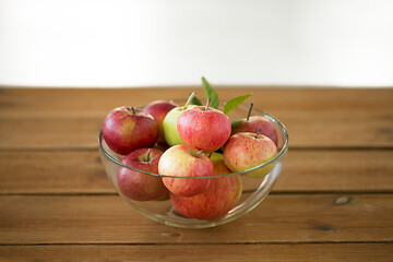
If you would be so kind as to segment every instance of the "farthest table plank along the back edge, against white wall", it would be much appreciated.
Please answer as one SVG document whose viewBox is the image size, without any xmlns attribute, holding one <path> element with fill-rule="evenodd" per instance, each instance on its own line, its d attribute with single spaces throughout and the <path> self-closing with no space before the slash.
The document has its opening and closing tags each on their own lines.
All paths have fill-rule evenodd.
<svg viewBox="0 0 393 262">
<path fill-rule="evenodd" d="M 144 88 L 0 88 L 0 116 L 46 112 L 106 114 L 122 105 L 143 105 L 154 99 L 186 98 L 199 86 Z M 357 111 L 392 110 L 393 88 L 312 88 L 277 86 L 217 86 L 222 99 L 253 93 L 249 102 L 274 114 L 277 110 Z M 334 105 L 334 106 L 332 106 Z M 50 109 L 50 110 L 48 110 Z"/>
</svg>

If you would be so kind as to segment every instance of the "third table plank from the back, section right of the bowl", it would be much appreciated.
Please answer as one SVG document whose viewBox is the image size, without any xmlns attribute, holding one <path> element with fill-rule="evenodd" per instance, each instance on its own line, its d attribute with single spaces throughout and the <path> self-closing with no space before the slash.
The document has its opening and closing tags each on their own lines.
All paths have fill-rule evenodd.
<svg viewBox="0 0 393 262">
<path fill-rule="evenodd" d="M 275 190 L 392 192 L 393 151 L 288 151 Z"/>
</svg>

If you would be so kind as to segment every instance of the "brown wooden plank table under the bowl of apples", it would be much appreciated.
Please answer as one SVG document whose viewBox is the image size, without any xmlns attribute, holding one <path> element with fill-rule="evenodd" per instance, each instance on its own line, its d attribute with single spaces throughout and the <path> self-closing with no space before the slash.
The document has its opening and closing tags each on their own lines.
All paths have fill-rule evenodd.
<svg viewBox="0 0 393 262">
<path fill-rule="evenodd" d="M 121 105 L 199 88 L 0 90 L 0 261 L 393 261 L 393 90 L 217 87 L 289 132 L 274 191 L 210 229 L 140 215 L 104 172 L 97 135 Z"/>
</svg>

